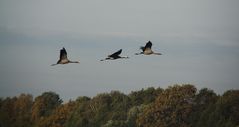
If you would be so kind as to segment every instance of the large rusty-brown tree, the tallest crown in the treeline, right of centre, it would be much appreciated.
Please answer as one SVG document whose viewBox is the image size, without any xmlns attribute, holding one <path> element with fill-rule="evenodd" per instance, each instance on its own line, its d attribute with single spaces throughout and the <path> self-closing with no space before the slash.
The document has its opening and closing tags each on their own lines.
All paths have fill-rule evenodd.
<svg viewBox="0 0 239 127">
<path fill-rule="evenodd" d="M 196 88 L 175 85 L 164 90 L 156 101 L 144 110 L 137 123 L 145 127 L 187 127 L 192 112 Z"/>
</svg>

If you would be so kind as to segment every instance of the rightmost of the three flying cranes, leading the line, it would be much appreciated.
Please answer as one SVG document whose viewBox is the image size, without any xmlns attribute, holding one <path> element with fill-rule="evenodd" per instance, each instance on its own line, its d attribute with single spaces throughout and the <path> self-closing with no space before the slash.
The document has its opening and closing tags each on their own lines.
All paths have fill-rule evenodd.
<svg viewBox="0 0 239 127">
<path fill-rule="evenodd" d="M 140 54 L 144 54 L 144 55 L 151 55 L 151 54 L 162 55 L 161 53 L 153 52 L 152 49 L 151 49 L 151 47 L 152 47 L 152 42 L 151 42 L 151 41 L 148 41 L 145 46 L 141 46 L 141 47 L 140 47 L 140 49 L 142 50 L 142 52 L 140 52 L 140 53 L 135 53 L 135 55 L 140 55 Z"/>
</svg>

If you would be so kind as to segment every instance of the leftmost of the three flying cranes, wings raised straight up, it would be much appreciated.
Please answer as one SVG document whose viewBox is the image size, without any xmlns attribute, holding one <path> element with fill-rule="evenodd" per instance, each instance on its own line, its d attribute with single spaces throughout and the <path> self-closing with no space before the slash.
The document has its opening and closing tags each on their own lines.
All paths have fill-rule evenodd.
<svg viewBox="0 0 239 127">
<path fill-rule="evenodd" d="M 56 64 L 52 64 L 51 66 L 57 65 L 57 64 L 68 64 L 68 63 L 79 63 L 78 61 L 70 61 L 67 58 L 67 52 L 66 49 L 63 47 L 60 51 L 60 59 L 57 61 Z"/>
</svg>

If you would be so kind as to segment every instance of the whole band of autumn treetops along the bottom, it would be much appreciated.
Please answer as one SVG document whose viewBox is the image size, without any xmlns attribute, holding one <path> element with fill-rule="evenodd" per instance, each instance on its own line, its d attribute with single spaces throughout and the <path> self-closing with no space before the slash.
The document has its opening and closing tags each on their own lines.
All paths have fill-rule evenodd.
<svg viewBox="0 0 239 127">
<path fill-rule="evenodd" d="M 239 90 L 222 95 L 193 85 L 78 97 L 45 92 L 0 99 L 0 127 L 239 127 Z"/>
</svg>

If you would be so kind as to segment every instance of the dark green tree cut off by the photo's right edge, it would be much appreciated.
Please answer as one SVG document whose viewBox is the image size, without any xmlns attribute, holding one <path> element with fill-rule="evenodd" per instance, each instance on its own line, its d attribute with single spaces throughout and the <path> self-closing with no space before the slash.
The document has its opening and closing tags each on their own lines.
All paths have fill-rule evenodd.
<svg viewBox="0 0 239 127">
<path fill-rule="evenodd" d="M 235 127 L 239 125 L 238 90 L 227 91 L 218 97 L 215 103 L 208 103 L 208 106 L 200 114 L 197 127 Z"/>
</svg>

